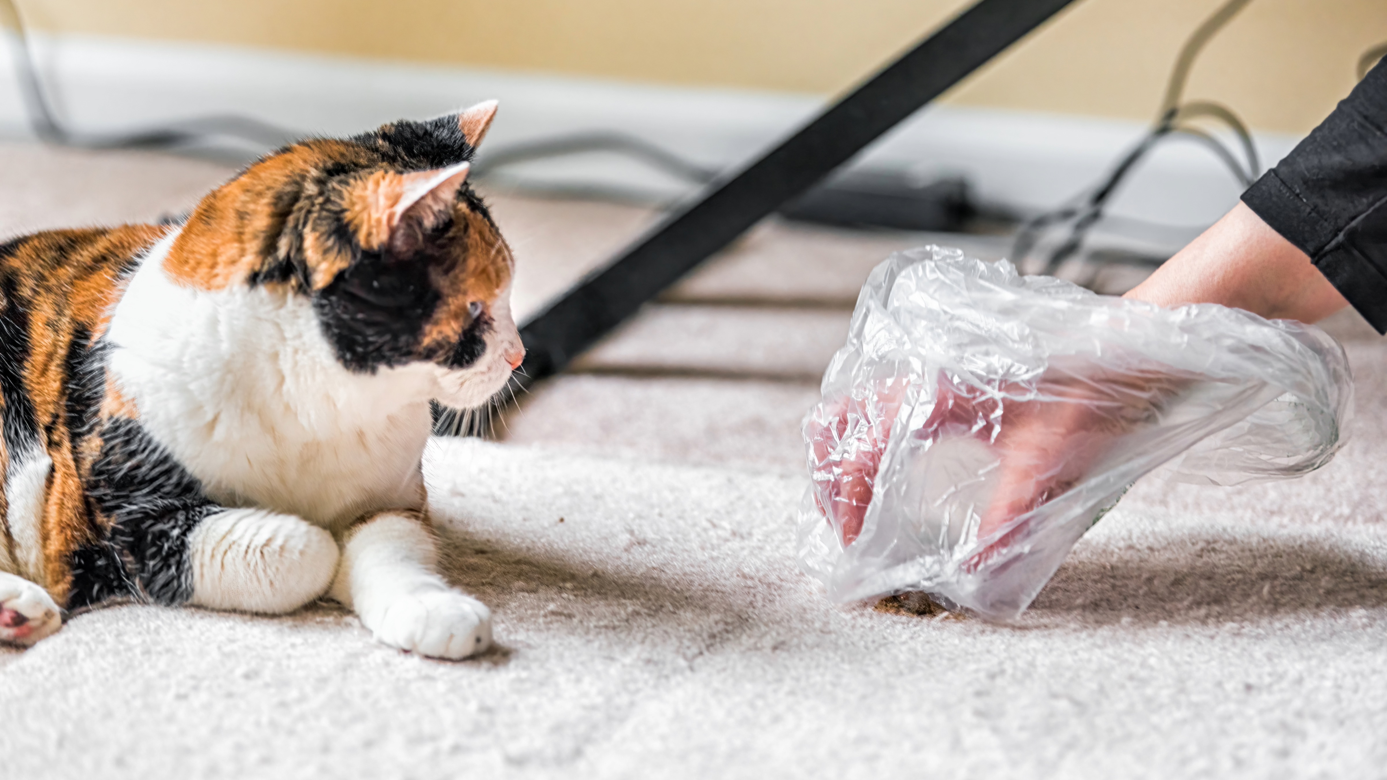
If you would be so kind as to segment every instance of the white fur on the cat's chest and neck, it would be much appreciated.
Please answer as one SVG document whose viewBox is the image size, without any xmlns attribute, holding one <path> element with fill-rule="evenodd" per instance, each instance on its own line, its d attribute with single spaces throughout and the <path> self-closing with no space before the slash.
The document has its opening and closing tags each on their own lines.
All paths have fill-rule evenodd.
<svg viewBox="0 0 1387 780">
<path fill-rule="evenodd" d="M 140 423 L 225 507 L 262 507 L 341 529 L 419 508 L 429 366 L 352 373 L 312 304 L 265 287 L 204 291 L 143 261 L 112 312 L 111 371 Z"/>
</svg>

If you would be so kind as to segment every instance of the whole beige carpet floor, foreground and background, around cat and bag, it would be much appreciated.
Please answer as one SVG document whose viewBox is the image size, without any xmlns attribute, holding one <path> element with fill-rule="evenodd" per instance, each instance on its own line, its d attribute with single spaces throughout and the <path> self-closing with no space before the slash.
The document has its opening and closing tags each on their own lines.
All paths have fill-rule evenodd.
<svg viewBox="0 0 1387 780">
<path fill-rule="evenodd" d="M 0 147 L 0 215 L 153 215 L 222 175 Z M 497 212 L 530 273 L 567 273 L 531 301 L 651 219 Z M 0 777 L 1387 776 L 1387 347 L 1354 318 L 1334 464 L 1139 486 L 1021 627 L 838 608 L 798 572 L 807 378 L 859 275 L 918 239 L 767 226 L 538 387 L 510 443 L 437 441 L 448 570 L 498 651 L 419 659 L 326 605 L 86 613 L 0 651 Z"/>
</svg>

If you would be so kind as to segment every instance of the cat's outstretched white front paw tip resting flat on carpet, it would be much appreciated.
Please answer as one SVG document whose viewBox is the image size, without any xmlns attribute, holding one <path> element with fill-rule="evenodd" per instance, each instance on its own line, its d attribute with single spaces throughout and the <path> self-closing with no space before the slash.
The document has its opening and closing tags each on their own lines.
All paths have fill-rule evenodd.
<svg viewBox="0 0 1387 780">
<path fill-rule="evenodd" d="M 429 588 L 391 600 L 370 627 L 376 640 L 456 661 L 491 647 L 491 609 L 455 590 Z"/>
</svg>

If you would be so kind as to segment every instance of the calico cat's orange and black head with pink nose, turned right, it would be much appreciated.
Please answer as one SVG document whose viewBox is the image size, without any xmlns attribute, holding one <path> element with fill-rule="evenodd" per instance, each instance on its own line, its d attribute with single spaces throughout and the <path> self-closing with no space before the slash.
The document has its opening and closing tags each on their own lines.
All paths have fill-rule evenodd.
<svg viewBox="0 0 1387 780">
<path fill-rule="evenodd" d="M 298 296 L 348 371 L 426 364 L 438 401 L 480 405 L 524 355 L 510 248 L 466 180 L 495 110 L 265 157 L 198 204 L 165 272 L 203 290 Z"/>
</svg>

